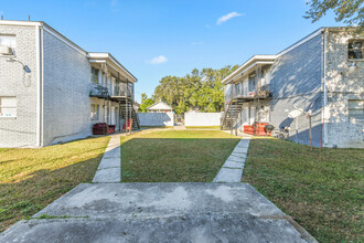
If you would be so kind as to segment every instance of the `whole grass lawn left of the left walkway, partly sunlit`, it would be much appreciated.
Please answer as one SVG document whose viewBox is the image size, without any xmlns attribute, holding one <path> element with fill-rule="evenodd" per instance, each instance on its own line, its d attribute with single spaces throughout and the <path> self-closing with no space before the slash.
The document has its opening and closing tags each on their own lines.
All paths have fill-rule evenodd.
<svg viewBox="0 0 364 243">
<path fill-rule="evenodd" d="M 0 232 L 81 182 L 90 182 L 109 137 L 39 149 L 0 149 Z"/>
</svg>

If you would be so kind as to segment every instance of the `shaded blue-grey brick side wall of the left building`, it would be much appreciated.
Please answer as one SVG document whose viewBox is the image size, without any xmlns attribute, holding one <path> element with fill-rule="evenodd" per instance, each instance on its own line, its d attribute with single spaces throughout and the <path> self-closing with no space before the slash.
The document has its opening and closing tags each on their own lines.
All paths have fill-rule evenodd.
<svg viewBox="0 0 364 243">
<path fill-rule="evenodd" d="M 88 59 L 46 31 L 43 33 L 43 145 L 87 137 L 92 134 Z"/>
</svg>

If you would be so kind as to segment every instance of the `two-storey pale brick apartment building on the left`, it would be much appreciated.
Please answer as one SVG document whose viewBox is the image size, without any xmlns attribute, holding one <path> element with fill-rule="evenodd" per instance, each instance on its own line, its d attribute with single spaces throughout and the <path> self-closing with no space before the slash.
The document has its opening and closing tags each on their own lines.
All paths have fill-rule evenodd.
<svg viewBox="0 0 364 243">
<path fill-rule="evenodd" d="M 99 122 L 119 129 L 136 117 L 136 82 L 111 54 L 86 52 L 44 22 L 1 20 L 0 147 L 85 138 Z"/>
</svg>

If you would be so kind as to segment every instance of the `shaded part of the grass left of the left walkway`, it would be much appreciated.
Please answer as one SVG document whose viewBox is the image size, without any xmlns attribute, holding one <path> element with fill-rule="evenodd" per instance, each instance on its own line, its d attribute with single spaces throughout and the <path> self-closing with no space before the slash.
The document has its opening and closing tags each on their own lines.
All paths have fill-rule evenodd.
<svg viewBox="0 0 364 243">
<path fill-rule="evenodd" d="M 77 184 L 92 182 L 103 155 L 60 169 L 39 169 L 25 179 L 0 183 L 0 232 L 33 215 Z"/>
</svg>

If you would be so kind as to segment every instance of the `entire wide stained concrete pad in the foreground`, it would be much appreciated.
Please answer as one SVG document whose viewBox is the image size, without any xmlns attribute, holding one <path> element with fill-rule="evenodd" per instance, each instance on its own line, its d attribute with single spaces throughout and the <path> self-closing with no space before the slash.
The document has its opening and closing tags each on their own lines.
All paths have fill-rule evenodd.
<svg viewBox="0 0 364 243">
<path fill-rule="evenodd" d="M 0 242 L 303 243 L 314 239 L 247 183 L 84 183 L 31 220 L 15 223 Z"/>
</svg>

